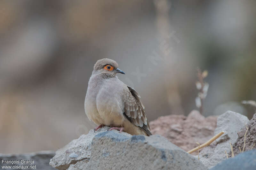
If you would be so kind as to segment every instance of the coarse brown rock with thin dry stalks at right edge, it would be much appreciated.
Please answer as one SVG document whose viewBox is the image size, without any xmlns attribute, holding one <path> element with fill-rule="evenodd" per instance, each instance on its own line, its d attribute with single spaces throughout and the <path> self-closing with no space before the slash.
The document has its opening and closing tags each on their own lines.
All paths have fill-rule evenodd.
<svg viewBox="0 0 256 170">
<path fill-rule="evenodd" d="M 256 148 L 256 146 L 254 145 L 256 143 L 256 113 L 253 115 L 252 119 L 246 126 L 248 127 L 248 131 L 245 137 L 244 151 L 248 151 Z M 237 155 L 240 153 L 239 147 L 241 148 L 241 150 L 243 150 L 246 126 L 244 126 L 243 129 L 237 132 L 238 138 L 236 139 L 236 142 L 233 144 L 234 155 Z M 230 156 L 231 156 L 231 152 L 229 152 L 229 157 Z"/>
</svg>

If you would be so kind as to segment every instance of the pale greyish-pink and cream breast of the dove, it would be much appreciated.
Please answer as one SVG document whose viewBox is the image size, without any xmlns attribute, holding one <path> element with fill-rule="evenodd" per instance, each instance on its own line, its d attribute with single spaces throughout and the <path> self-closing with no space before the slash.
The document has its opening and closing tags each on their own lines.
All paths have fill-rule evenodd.
<svg viewBox="0 0 256 170">
<path fill-rule="evenodd" d="M 87 117 L 97 125 L 121 127 L 125 119 L 123 89 L 124 83 L 118 78 L 100 79 L 92 75 L 84 101 Z"/>
</svg>

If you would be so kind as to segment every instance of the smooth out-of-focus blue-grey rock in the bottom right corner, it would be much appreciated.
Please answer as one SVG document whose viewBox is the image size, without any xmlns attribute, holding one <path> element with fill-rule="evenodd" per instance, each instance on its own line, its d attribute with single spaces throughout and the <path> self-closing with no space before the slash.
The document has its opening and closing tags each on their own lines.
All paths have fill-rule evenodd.
<svg viewBox="0 0 256 170">
<path fill-rule="evenodd" d="M 255 170 L 256 151 L 246 151 L 214 166 L 211 170 Z"/>
</svg>

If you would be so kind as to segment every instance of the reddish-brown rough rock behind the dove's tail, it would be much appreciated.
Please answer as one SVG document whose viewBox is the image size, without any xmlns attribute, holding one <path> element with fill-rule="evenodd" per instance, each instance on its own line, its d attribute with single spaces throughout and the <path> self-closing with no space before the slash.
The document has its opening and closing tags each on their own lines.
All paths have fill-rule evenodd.
<svg viewBox="0 0 256 170">
<path fill-rule="evenodd" d="M 152 134 L 166 137 L 181 149 L 189 151 L 198 146 L 196 142 L 203 144 L 213 137 L 217 116 L 205 118 L 197 110 L 193 110 L 187 117 L 184 115 L 161 116 L 149 124 Z"/>
</svg>

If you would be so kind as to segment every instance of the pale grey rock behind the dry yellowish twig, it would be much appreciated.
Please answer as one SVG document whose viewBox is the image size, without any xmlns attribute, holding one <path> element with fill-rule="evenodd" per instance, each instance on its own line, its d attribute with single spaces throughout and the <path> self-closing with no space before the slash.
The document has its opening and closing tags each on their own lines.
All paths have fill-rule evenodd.
<svg viewBox="0 0 256 170">
<path fill-rule="evenodd" d="M 248 122 L 249 120 L 246 116 L 232 111 L 227 111 L 220 115 L 214 134 L 216 135 L 222 130 L 225 134 L 199 153 L 200 161 L 202 161 L 206 167 L 211 168 L 227 159 L 225 151 L 230 151 L 229 142 L 234 143 L 236 141 L 236 132 Z"/>
</svg>

